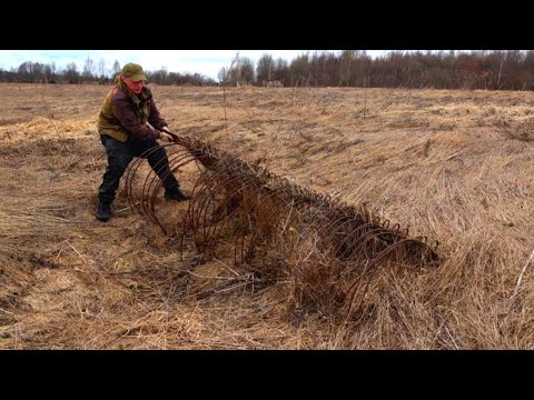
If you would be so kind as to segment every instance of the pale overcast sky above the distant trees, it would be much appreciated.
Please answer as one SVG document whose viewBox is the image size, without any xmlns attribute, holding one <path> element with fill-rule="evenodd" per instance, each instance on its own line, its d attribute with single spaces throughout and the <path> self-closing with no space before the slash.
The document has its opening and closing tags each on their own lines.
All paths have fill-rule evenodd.
<svg viewBox="0 0 534 400">
<path fill-rule="evenodd" d="M 106 73 L 109 73 L 117 60 L 120 67 L 128 62 L 137 62 L 147 71 L 166 67 L 169 72 L 198 72 L 217 80 L 217 73 L 222 67 L 230 66 L 238 51 L 240 58 L 247 57 L 256 63 L 265 53 L 273 56 L 275 60 L 283 58 L 290 61 L 297 56 L 308 51 L 313 53 L 316 50 L 0 50 L 0 68 L 9 70 L 24 61 L 55 62 L 57 68 L 76 62 L 81 72 L 89 57 L 95 66 L 103 59 Z M 367 53 L 375 57 L 384 53 L 384 50 L 367 50 Z"/>
</svg>

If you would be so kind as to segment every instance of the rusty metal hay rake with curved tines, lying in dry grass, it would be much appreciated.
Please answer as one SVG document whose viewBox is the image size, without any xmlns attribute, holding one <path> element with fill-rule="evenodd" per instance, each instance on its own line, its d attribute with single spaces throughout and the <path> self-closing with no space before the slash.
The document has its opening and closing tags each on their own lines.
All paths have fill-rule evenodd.
<svg viewBox="0 0 534 400">
<path fill-rule="evenodd" d="M 437 242 L 411 238 L 407 229 L 380 220 L 365 206 L 338 202 L 190 137 L 177 137 L 166 148 L 164 173 L 191 162 L 198 167 L 191 200 L 177 224 L 180 252 L 186 241 L 202 254 L 231 249 L 236 264 L 291 277 L 303 301 L 317 304 L 322 296 L 348 312 L 379 266 L 439 262 Z M 135 184 L 142 162 L 137 159 L 127 172 L 128 200 L 167 233 L 156 213 L 161 180 L 152 171 L 142 186 Z"/>
</svg>

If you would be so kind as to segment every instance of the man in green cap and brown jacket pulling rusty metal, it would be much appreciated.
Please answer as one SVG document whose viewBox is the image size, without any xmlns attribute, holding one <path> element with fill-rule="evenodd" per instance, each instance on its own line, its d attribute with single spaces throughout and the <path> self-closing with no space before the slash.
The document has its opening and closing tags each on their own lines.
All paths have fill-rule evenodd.
<svg viewBox="0 0 534 400">
<path fill-rule="evenodd" d="M 147 77 L 141 66 L 127 63 L 122 73 L 115 79 L 116 87 L 103 100 L 98 119 L 100 141 L 108 153 L 108 167 L 98 189 L 97 219 L 108 221 L 111 203 L 134 157 L 157 147 L 148 156 L 148 162 L 160 179 L 164 179 L 165 198 L 176 201 L 189 200 L 179 188 L 178 181 L 169 173 L 167 152 L 156 142 L 157 139 L 172 141 L 167 133 L 169 128 L 159 114 L 152 93 L 145 86 Z"/>
</svg>

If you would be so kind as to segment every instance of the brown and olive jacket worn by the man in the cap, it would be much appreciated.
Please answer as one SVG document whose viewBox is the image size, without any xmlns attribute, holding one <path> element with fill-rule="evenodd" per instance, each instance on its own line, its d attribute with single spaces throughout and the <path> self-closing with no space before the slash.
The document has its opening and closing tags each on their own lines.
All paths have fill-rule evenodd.
<svg viewBox="0 0 534 400">
<path fill-rule="evenodd" d="M 167 127 L 167 122 L 159 116 L 150 89 L 144 87 L 136 96 L 120 77 L 115 79 L 115 83 L 116 87 L 103 100 L 98 118 L 98 132 L 121 142 L 126 142 L 130 137 L 140 140 L 158 139 L 159 130 Z"/>
</svg>

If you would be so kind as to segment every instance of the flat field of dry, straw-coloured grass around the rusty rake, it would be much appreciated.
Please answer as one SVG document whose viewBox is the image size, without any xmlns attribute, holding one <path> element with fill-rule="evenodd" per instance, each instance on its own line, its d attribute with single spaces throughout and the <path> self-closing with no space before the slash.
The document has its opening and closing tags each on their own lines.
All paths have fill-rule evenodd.
<svg viewBox="0 0 534 400">
<path fill-rule="evenodd" d="M 231 88 L 225 121 L 219 88 L 152 88 L 174 131 L 439 241 L 344 320 L 288 280 L 220 286 L 233 253 L 181 259 L 123 184 L 97 221 L 109 89 L 0 86 L 0 349 L 534 349 L 532 92 Z"/>
</svg>

